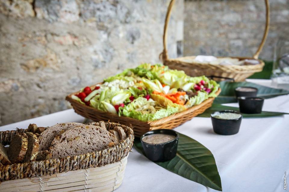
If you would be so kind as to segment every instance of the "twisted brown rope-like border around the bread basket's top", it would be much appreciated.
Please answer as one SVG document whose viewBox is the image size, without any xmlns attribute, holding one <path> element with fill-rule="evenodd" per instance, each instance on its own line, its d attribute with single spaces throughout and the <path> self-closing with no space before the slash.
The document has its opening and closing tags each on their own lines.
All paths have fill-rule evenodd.
<svg viewBox="0 0 289 192">
<path fill-rule="evenodd" d="M 110 127 L 110 126 L 113 126 L 113 127 L 120 126 L 120 127 L 122 127 L 124 129 L 124 131 L 126 132 L 126 135 L 127 135 L 126 139 L 125 140 L 121 140 L 117 145 L 114 145 L 112 147 L 108 147 L 108 148 L 103 149 L 103 150 L 89 152 L 89 153 L 85 153 L 85 154 L 67 156 L 65 158 L 59 158 L 59 159 L 54 158 L 54 159 L 49 159 L 49 160 L 44 160 L 44 161 L 32 161 L 32 162 L 29 162 L 29 163 L 18 163 L 18 164 L 4 165 L 4 166 L 0 167 L 0 182 L 13 180 L 13 179 L 24 179 L 24 178 L 28 178 L 28 177 L 43 176 L 43 175 L 54 174 L 54 173 L 62 173 L 64 171 L 67 172 L 67 171 L 70 171 L 70 170 L 84 169 L 84 168 L 80 168 L 80 167 L 79 168 L 78 167 L 71 168 L 72 165 L 67 165 L 67 163 L 68 164 L 73 164 L 73 162 L 74 162 L 74 164 L 75 163 L 84 164 L 83 162 L 80 162 L 80 161 L 85 161 L 85 159 L 87 161 L 87 158 L 90 161 L 91 158 L 98 157 L 98 158 L 101 158 L 101 162 L 96 162 L 95 165 L 92 165 L 92 164 L 88 165 L 88 167 L 86 167 L 86 168 L 102 167 L 104 165 L 112 164 L 114 162 L 120 161 L 121 159 L 126 157 L 126 155 L 129 153 L 129 151 L 132 148 L 133 140 L 134 140 L 133 130 L 129 126 L 121 125 L 121 124 L 114 123 L 114 122 L 105 122 L 105 125 L 106 125 L 106 127 Z M 1 143 L 5 143 L 3 140 L 5 140 L 5 139 L 7 140 L 8 139 L 7 136 L 5 137 L 5 135 L 7 135 L 7 134 L 15 135 L 17 133 L 25 133 L 26 130 L 27 129 L 18 129 L 17 128 L 17 130 L 0 131 L 0 137 L 1 137 L 1 141 L 0 142 Z M 12 138 L 12 136 L 11 136 L 11 138 Z M 120 156 L 122 156 L 122 158 L 116 159 L 116 156 L 115 156 L 115 157 L 113 157 L 113 160 L 109 160 L 108 159 L 107 162 L 105 162 L 105 160 L 103 160 L 102 158 L 105 158 L 104 155 L 105 154 L 107 155 L 108 153 L 110 154 L 112 151 L 115 151 L 115 152 L 123 151 L 122 155 L 120 155 Z M 117 155 L 117 154 L 114 154 L 114 155 Z M 33 176 L 25 176 L 25 175 L 23 176 L 23 173 L 21 173 L 21 172 L 24 172 L 23 171 L 24 167 L 26 167 L 27 169 L 28 168 L 30 169 L 33 166 L 37 167 L 37 168 L 41 167 L 40 165 L 46 166 L 48 168 L 51 168 L 52 165 L 53 165 L 54 169 L 56 169 L 56 170 L 54 170 L 53 173 L 50 173 L 49 171 L 47 171 L 49 173 L 47 173 L 47 174 L 37 173 L 36 175 L 33 175 Z M 55 168 L 55 166 L 57 166 L 57 165 L 58 165 L 58 168 Z M 59 168 L 59 165 L 63 165 L 62 169 Z M 69 166 L 70 168 L 65 169 L 65 168 L 67 168 L 67 166 Z M 11 175 L 11 173 L 9 172 L 9 170 L 15 170 L 15 169 L 17 169 L 17 171 L 14 171 L 15 173 L 13 173 L 13 175 L 15 175 L 16 178 L 10 179 L 9 176 Z M 27 173 L 27 175 L 28 174 L 29 173 Z M 5 176 L 8 176 L 9 179 L 5 179 Z"/>
</svg>

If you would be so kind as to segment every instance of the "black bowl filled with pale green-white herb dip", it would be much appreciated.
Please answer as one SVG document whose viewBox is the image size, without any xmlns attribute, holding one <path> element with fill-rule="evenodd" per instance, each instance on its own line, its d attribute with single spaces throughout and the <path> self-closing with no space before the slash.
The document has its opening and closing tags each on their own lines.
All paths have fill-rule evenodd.
<svg viewBox="0 0 289 192">
<path fill-rule="evenodd" d="M 232 110 L 216 111 L 211 114 L 211 120 L 216 134 L 233 135 L 239 132 L 242 115 Z"/>
</svg>

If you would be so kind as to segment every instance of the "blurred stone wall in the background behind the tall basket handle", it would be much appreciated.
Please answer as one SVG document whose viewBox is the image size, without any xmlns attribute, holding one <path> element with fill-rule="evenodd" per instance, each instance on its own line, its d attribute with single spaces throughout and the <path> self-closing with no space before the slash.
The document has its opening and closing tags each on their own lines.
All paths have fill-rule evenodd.
<svg viewBox="0 0 289 192">
<path fill-rule="evenodd" d="M 289 0 L 270 0 L 270 31 L 260 58 L 273 60 L 288 38 Z M 265 27 L 264 0 L 185 1 L 184 55 L 252 56 Z"/>
</svg>

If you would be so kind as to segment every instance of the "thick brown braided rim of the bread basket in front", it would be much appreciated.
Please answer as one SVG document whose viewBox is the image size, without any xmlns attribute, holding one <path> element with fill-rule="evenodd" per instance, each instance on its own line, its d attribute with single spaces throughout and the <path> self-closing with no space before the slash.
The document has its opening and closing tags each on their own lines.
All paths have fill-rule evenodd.
<svg viewBox="0 0 289 192">
<path fill-rule="evenodd" d="M 126 132 L 126 139 L 119 144 L 107 149 L 86 153 L 83 155 L 67 156 L 62 159 L 51 159 L 47 161 L 33 161 L 31 163 L 12 164 L 0 167 L 0 181 L 14 179 L 32 178 L 38 176 L 52 175 L 71 170 L 82 170 L 92 167 L 102 167 L 119 162 L 125 158 L 132 149 L 134 134 L 131 128 L 117 123 L 106 123 L 108 130 L 120 126 Z M 0 141 L 3 145 L 9 145 L 13 135 L 23 133 L 26 129 L 15 131 L 1 131 Z"/>
</svg>

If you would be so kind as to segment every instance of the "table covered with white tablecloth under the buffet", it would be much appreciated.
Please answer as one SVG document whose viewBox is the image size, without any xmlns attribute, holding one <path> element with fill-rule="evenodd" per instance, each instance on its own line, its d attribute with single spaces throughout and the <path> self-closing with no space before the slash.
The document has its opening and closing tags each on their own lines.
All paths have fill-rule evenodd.
<svg viewBox="0 0 289 192">
<path fill-rule="evenodd" d="M 250 82 L 270 86 L 270 80 Z M 238 104 L 226 104 L 238 107 Z M 266 99 L 263 110 L 289 113 L 289 95 Z M 0 131 L 27 128 L 30 123 L 51 126 L 83 122 L 73 109 L 4 125 Z M 210 118 L 195 117 L 175 128 L 202 143 L 213 153 L 225 192 L 285 191 L 284 172 L 289 173 L 289 115 L 243 119 L 238 134 L 217 135 Z M 149 161 L 135 149 L 129 154 L 122 185 L 116 191 L 216 191 Z"/>
</svg>

